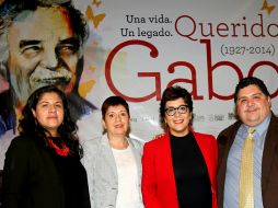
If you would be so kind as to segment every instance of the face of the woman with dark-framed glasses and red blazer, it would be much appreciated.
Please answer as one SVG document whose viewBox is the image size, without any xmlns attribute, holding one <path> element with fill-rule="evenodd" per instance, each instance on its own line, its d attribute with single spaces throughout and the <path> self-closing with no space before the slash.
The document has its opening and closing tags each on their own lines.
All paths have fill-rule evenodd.
<svg viewBox="0 0 278 208">
<path fill-rule="evenodd" d="M 165 107 L 176 108 L 179 107 L 181 105 L 186 105 L 186 103 L 182 97 L 174 101 L 167 101 Z M 181 114 L 178 113 L 178 111 L 176 111 L 173 116 L 169 116 L 167 114 L 165 114 L 164 117 L 164 122 L 167 125 L 171 135 L 175 137 L 183 137 L 189 132 L 190 120 L 192 120 L 192 112 L 189 111 L 187 111 L 184 114 Z"/>
</svg>

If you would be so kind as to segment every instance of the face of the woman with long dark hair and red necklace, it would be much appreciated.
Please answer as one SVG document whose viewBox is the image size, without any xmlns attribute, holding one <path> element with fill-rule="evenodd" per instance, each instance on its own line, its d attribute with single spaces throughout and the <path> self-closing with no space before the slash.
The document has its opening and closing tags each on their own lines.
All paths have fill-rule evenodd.
<svg viewBox="0 0 278 208">
<path fill-rule="evenodd" d="M 53 137 L 58 136 L 58 127 L 63 120 L 63 105 L 59 95 L 55 92 L 40 95 L 35 109 L 32 109 L 36 122 L 43 126 Z"/>
</svg>

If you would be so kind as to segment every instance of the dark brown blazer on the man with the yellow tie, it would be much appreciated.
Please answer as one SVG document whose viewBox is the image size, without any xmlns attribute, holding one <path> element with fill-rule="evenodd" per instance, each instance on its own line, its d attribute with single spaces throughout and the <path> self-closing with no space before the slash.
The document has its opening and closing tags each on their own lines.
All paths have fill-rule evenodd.
<svg viewBox="0 0 278 208">
<path fill-rule="evenodd" d="M 218 206 L 223 207 L 223 192 L 227 160 L 238 129 L 242 123 L 236 122 L 218 136 Z M 262 195 L 264 208 L 278 207 L 278 117 L 271 114 L 266 134 L 262 161 Z"/>
</svg>

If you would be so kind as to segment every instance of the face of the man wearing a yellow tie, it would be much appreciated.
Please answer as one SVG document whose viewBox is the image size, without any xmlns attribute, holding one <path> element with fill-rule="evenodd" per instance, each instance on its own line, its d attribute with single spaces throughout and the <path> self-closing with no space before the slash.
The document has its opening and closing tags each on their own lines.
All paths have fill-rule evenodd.
<svg viewBox="0 0 278 208">
<path fill-rule="evenodd" d="M 239 91 L 236 112 L 240 119 L 247 126 L 259 125 L 269 114 L 270 107 L 270 97 L 266 96 L 255 84 Z"/>
</svg>

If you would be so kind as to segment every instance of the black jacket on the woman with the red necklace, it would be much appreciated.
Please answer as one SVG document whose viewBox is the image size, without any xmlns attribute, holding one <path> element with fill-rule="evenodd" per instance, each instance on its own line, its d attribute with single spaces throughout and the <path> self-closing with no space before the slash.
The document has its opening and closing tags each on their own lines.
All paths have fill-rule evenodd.
<svg viewBox="0 0 278 208">
<path fill-rule="evenodd" d="M 35 139 L 14 138 L 5 153 L 3 208 L 19 207 L 89 208 L 86 173 L 79 158 L 59 157 Z"/>
</svg>

